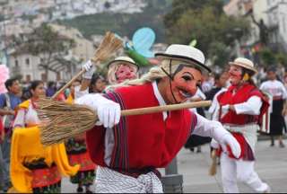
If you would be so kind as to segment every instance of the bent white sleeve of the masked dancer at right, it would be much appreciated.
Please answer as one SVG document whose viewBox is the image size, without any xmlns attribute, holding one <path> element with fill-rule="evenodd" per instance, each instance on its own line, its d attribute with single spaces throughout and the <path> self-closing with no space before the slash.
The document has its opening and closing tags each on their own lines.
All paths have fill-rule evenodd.
<svg viewBox="0 0 287 194">
<path fill-rule="evenodd" d="M 258 96 L 252 96 L 243 103 L 234 104 L 237 114 L 259 115 L 262 101 Z"/>
</svg>

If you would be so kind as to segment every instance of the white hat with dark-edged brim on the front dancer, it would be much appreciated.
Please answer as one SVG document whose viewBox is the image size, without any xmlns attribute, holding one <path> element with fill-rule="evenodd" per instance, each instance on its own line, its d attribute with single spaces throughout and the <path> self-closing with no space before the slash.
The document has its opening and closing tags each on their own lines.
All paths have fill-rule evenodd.
<svg viewBox="0 0 287 194">
<path fill-rule="evenodd" d="M 159 59 L 177 59 L 187 64 L 193 64 L 201 69 L 211 72 L 208 66 L 204 65 L 204 53 L 194 47 L 187 45 L 172 44 L 164 53 L 156 53 L 155 57 Z"/>
</svg>

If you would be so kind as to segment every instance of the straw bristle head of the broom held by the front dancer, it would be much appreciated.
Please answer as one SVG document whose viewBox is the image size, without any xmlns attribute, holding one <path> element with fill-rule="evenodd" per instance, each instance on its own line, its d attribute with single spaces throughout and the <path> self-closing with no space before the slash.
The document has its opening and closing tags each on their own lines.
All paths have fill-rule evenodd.
<svg viewBox="0 0 287 194">
<path fill-rule="evenodd" d="M 37 106 L 43 145 L 61 143 L 83 134 L 93 128 L 98 119 L 95 111 L 84 105 L 40 99 Z"/>
</svg>

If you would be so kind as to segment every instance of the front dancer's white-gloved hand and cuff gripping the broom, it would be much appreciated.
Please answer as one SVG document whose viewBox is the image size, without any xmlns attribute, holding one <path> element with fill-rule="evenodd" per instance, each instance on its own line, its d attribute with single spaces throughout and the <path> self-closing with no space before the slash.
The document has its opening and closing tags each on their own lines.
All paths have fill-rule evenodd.
<svg viewBox="0 0 287 194">
<path fill-rule="evenodd" d="M 92 110 L 95 110 L 100 123 L 102 123 L 105 128 L 112 128 L 119 122 L 119 104 L 115 101 L 109 101 L 99 93 L 86 94 L 83 97 L 76 99 L 75 103 L 87 105 Z"/>
</svg>

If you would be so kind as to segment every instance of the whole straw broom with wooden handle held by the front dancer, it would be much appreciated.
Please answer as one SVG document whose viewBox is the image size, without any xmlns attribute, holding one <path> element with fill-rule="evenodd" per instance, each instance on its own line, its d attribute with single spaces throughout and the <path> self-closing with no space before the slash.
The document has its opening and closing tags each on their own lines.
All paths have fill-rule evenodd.
<svg viewBox="0 0 287 194">
<path fill-rule="evenodd" d="M 41 142 L 53 145 L 70 137 L 83 134 L 95 126 L 98 117 L 94 110 L 78 104 L 63 101 L 41 99 L 38 103 L 38 115 L 41 121 Z M 210 106 L 211 101 L 196 101 L 182 104 L 149 107 L 135 110 L 122 110 L 121 116 L 149 114 L 161 111 L 182 110 Z"/>
</svg>

